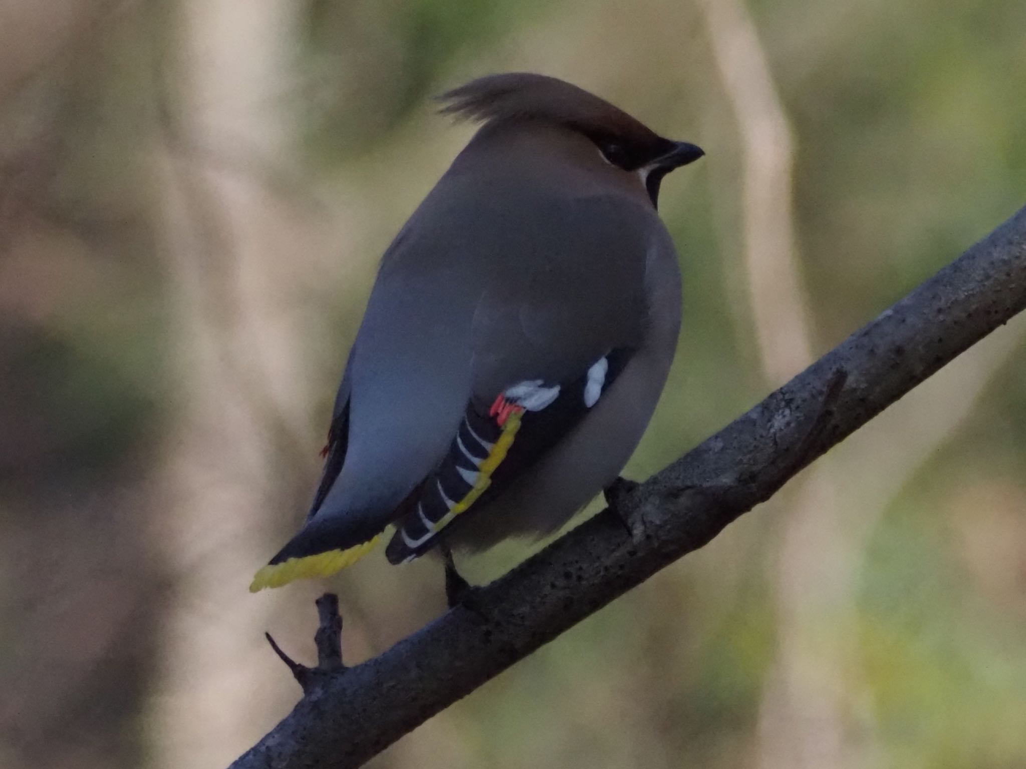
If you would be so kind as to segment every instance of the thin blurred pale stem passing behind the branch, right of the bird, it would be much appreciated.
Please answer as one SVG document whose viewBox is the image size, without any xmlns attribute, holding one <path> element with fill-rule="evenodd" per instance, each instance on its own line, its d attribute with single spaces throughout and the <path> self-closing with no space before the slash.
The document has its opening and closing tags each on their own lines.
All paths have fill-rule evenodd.
<svg viewBox="0 0 1026 769">
<path fill-rule="evenodd" d="M 744 0 L 702 6 L 742 143 L 744 253 L 759 359 L 765 378 L 779 387 L 814 360 L 794 238 L 794 140 Z M 853 611 L 855 601 L 833 464 L 832 457 L 821 459 L 774 504 L 787 512 L 774 580 L 780 646 L 761 705 L 763 769 L 860 766 L 860 752 L 872 739 L 867 724 L 858 730 L 849 724 L 845 687 L 862 688 L 846 673 L 850 636 L 824 630 L 828 616 Z"/>
</svg>

